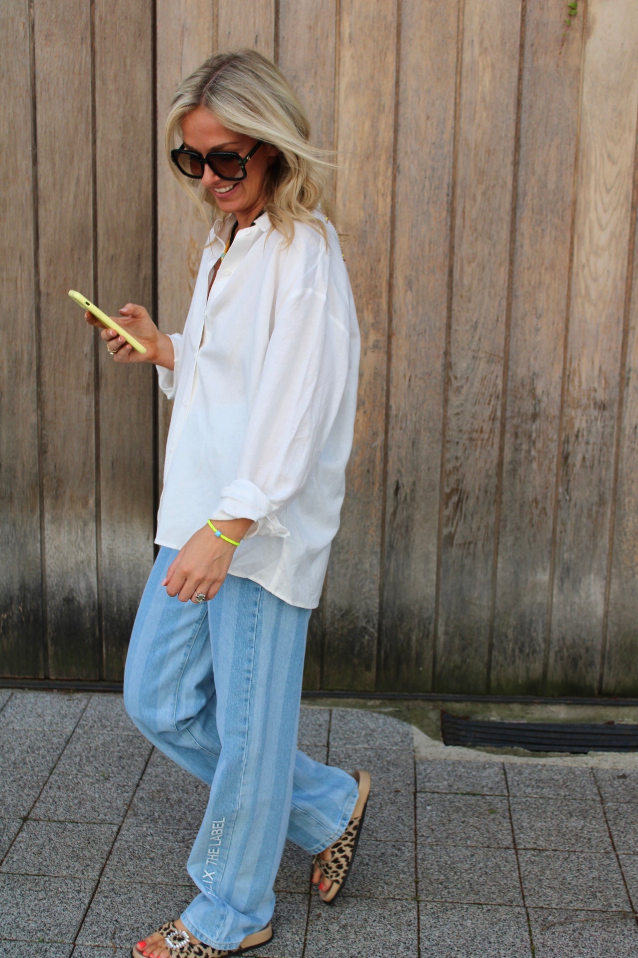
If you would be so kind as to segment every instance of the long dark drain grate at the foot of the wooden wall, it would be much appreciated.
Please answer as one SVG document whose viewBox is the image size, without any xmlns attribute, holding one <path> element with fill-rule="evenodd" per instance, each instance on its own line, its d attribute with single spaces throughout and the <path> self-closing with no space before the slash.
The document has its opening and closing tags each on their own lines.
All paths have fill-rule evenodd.
<svg viewBox="0 0 638 958">
<path fill-rule="evenodd" d="M 446 745 L 493 745 L 530 752 L 635 752 L 638 725 L 613 721 L 601 725 L 558 722 L 490 721 L 453 716 L 441 710 Z"/>
</svg>

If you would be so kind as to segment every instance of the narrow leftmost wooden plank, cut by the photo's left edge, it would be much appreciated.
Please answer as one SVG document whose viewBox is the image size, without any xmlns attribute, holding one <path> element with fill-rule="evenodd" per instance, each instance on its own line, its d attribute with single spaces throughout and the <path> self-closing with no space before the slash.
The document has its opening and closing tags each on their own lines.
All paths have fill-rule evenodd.
<svg viewBox="0 0 638 958">
<path fill-rule="evenodd" d="M 0 674 L 43 674 L 29 4 L 0 6 Z M 19 161 L 16 162 L 16 158 Z"/>
</svg>

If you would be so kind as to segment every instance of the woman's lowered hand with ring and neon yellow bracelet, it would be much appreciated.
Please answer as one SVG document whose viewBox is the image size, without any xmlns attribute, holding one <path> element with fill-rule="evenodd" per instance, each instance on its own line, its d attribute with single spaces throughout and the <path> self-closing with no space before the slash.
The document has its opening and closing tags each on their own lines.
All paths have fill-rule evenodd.
<svg viewBox="0 0 638 958">
<path fill-rule="evenodd" d="M 215 528 L 238 542 L 252 524 L 252 519 L 220 520 L 215 522 Z M 198 529 L 168 566 L 165 581 L 162 582 L 168 595 L 177 596 L 180 602 L 188 602 L 189 599 L 194 602 L 199 593 L 212 599 L 226 579 L 235 548 L 230 542 L 215 536 L 209 525 Z"/>
</svg>

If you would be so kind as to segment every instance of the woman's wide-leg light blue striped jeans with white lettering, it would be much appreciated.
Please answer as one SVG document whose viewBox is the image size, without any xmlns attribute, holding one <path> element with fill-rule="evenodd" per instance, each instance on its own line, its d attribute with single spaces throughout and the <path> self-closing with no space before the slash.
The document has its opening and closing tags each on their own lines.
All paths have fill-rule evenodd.
<svg viewBox="0 0 638 958">
<path fill-rule="evenodd" d="M 358 789 L 297 751 L 310 610 L 236 576 L 208 603 L 171 599 L 162 581 L 176 555 L 163 546 L 146 583 L 124 703 L 149 741 L 210 786 L 187 864 L 201 894 L 181 917 L 207 945 L 231 950 L 273 915 L 286 837 L 312 854 L 327 848 Z"/>
</svg>

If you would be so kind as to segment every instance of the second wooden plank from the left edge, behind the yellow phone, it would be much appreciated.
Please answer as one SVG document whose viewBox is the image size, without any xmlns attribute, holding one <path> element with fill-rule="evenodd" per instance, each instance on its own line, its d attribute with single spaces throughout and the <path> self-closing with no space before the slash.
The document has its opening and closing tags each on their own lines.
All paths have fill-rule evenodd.
<svg viewBox="0 0 638 958">
<path fill-rule="evenodd" d="M 67 296 L 94 295 L 90 6 L 33 9 L 49 659 L 52 677 L 97 678 L 94 340 Z"/>
</svg>

